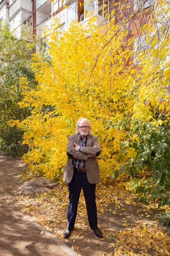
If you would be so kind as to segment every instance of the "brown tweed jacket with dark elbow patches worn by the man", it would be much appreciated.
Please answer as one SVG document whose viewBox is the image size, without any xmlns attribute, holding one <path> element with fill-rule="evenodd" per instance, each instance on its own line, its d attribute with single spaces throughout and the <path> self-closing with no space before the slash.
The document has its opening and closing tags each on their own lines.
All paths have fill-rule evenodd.
<svg viewBox="0 0 170 256">
<path fill-rule="evenodd" d="M 96 136 L 88 134 L 87 147 L 83 147 L 83 153 L 80 151 L 76 151 L 74 142 L 79 145 L 79 134 L 72 134 L 68 137 L 68 145 L 67 145 L 67 155 L 68 160 L 64 168 L 64 172 L 62 175 L 62 179 L 66 183 L 70 183 L 73 177 L 73 160 L 85 160 L 86 164 L 86 173 L 88 181 L 92 184 L 98 183 L 100 181 L 100 171 L 99 165 L 97 163 L 96 157 L 99 156 L 101 152 L 101 148 L 99 146 L 99 142 Z M 97 145 L 93 148 L 94 145 Z M 88 155 L 96 156 L 96 157 L 88 157 Z"/>
</svg>

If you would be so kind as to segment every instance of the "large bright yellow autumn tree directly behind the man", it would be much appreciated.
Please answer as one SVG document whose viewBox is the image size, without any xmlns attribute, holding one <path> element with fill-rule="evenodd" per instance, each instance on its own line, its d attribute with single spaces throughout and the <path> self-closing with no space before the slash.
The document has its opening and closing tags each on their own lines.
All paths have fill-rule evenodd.
<svg viewBox="0 0 170 256">
<path fill-rule="evenodd" d="M 153 118 L 163 96 L 153 79 L 159 74 L 153 72 L 155 61 L 151 57 L 137 72 L 131 61 L 133 50 L 127 47 L 133 39 L 125 41 L 127 31 L 116 25 L 114 18 L 107 29 L 94 26 L 94 17 L 87 27 L 72 22 L 62 35 L 59 26 L 57 23 L 52 32 L 46 32 L 50 35 L 52 64 L 33 55 L 37 88 L 30 90 L 28 82 L 20 81 L 24 90 L 20 107 L 32 110 L 27 119 L 13 125 L 25 132 L 23 141 L 30 148 L 25 160 L 30 169 L 57 178 L 67 159 L 67 137 L 74 133 L 77 119 L 88 118 L 102 147 L 99 166 L 105 180 L 113 168 L 118 170 L 136 156 L 133 147 L 126 154 L 120 147 L 127 124 L 122 130 L 107 129 L 108 125 L 131 116 Z"/>
</svg>

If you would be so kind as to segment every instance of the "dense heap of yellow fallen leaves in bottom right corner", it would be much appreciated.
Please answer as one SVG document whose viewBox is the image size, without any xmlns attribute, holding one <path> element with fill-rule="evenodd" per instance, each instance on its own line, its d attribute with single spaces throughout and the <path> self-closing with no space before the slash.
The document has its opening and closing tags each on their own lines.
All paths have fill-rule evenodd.
<svg viewBox="0 0 170 256">
<path fill-rule="evenodd" d="M 149 255 L 149 251 L 154 256 L 170 255 L 170 238 L 154 222 L 145 224 L 138 221 L 130 228 L 121 230 L 114 239 L 115 256 L 136 255 L 136 250 L 139 251 L 138 255 Z"/>
</svg>

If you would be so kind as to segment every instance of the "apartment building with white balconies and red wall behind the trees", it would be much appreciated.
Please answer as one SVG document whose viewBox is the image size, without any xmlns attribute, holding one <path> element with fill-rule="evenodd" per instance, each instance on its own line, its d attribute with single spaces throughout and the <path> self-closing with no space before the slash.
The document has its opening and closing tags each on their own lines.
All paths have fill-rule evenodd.
<svg viewBox="0 0 170 256">
<path fill-rule="evenodd" d="M 15 30 L 18 38 L 27 41 L 32 40 L 35 33 L 39 33 L 44 27 L 51 27 L 55 18 L 59 18 L 59 30 L 68 29 L 71 20 L 78 20 L 84 26 L 87 25 L 89 14 L 96 16 L 96 25 L 107 23 L 107 14 L 115 10 L 115 22 L 121 23 L 131 17 L 126 24 L 128 30 L 127 41 L 135 38 L 133 61 L 139 64 L 138 52 L 148 47 L 148 35 L 142 34 L 140 28 L 146 23 L 153 23 L 153 0 L 0 0 L 0 21 L 6 20 L 11 31 Z M 122 15 L 122 17 L 120 16 Z M 151 38 L 153 34 L 150 34 Z"/>
</svg>

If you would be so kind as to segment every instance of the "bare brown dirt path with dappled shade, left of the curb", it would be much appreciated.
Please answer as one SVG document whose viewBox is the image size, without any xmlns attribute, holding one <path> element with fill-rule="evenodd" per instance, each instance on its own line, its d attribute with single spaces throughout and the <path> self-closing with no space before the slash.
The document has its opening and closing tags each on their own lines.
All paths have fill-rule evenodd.
<svg viewBox="0 0 170 256">
<path fill-rule="evenodd" d="M 19 159 L 0 154 L 0 256 L 77 256 L 14 205 L 22 184 L 17 173 L 24 167 Z"/>
</svg>

